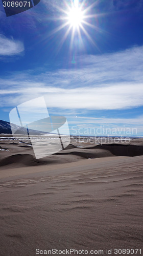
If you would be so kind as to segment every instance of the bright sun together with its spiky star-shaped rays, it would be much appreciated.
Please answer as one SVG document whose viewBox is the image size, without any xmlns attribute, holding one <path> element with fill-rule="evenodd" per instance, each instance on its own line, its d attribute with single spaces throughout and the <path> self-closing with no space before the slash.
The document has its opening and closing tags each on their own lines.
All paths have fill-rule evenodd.
<svg viewBox="0 0 143 256">
<path fill-rule="evenodd" d="M 60 13 L 57 20 L 59 21 L 60 26 L 56 27 L 51 32 L 51 35 L 53 35 L 57 32 L 61 32 L 61 30 L 64 30 L 62 39 L 58 45 L 58 51 L 61 49 L 68 35 L 70 35 L 70 50 L 73 49 L 75 38 L 78 42 L 80 42 L 81 48 L 84 48 L 85 38 L 87 38 L 91 44 L 97 47 L 96 42 L 94 39 L 92 39 L 90 33 L 93 34 L 92 30 L 99 30 L 99 27 L 96 26 L 97 22 L 92 23 L 91 20 L 97 20 L 99 16 L 104 15 L 102 13 L 93 12 L 98 0 L 95 0 L 91 5 L 88 5 L 88 0 L 63 0 L 63 3 L 63 8 L 57 7 L 58 12 Z"/>
</svg>

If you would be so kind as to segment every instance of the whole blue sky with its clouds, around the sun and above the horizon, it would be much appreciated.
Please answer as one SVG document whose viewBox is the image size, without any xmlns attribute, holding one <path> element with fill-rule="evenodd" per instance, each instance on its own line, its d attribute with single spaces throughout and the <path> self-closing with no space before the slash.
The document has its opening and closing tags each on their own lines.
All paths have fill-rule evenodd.
<svg viewBox="0 0 143 256">
<path fill-rule="evenodd" d="M 73 41 L 68 25 L 58 31 L 70 2 L 41 0 L 10 17 L 0 2 L 0 119 L 44 96 L 71 134 L 143 136 L 142 0 L 84 1 L 94 5 Z"/>
</svg>

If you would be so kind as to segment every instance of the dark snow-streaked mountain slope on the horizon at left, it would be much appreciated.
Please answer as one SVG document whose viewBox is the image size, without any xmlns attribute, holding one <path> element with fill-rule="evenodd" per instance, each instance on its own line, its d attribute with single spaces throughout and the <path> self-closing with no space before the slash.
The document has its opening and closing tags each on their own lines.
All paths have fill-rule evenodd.
<svg viewBox="0 0 143 256">
<path fill-rule="evenodd" d="M 27 134 L 27 129 L 25 127 L 17 126 L 16 124 L 10 125 L 10 122 L 6 122 L 3 120 L 0 120 L 0 134 L 12 134 L 11 126 L 16 131 L 16 134 Z M 36 130 L 31 130 L 31 129 L 29 129 L 29 132 L 32 135 L 45 134 L 45 132 L 40 132 Z"/>
</svg>

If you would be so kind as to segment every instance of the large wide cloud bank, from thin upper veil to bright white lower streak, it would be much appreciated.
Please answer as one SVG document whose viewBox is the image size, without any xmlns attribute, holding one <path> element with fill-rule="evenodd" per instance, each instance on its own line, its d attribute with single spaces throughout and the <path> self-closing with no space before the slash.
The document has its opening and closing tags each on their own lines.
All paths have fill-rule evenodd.
<svg viewBox="0 0 143 256">
<path fill-rule="evenodd" d="M 103 55 L 77 57 L 82 66 L 40 75 L 13 74 L 1 78 L 5 86 L 1 106 L 18 105 L 44 96 L 48 108 L 118 110 L 143 105 L 143 47 Z M 8 95 L 9 94 L 9 95 Z"/>
</svg>

